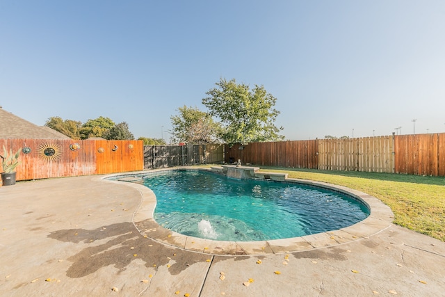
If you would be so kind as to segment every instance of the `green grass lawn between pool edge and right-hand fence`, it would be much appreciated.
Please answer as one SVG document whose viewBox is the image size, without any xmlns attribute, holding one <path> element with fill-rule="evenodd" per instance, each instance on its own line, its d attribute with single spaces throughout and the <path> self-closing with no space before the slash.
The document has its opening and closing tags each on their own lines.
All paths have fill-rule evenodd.
<svg viewBox="0 0 445 297">
<path fill-rule="evenodd" d="M 394 212 L 394 224 L 445 241 L 445 178 L 390 173 L 327 171 L 262 166 L 289 178 L 328 182 L 368 193 Z"/>
</svg>

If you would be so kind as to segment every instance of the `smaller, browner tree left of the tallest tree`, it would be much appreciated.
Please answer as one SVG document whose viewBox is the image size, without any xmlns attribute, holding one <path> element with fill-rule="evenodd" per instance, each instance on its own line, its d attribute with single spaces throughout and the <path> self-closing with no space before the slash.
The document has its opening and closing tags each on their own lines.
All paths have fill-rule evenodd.
<svg viewBox="0 0 445 297">
<path fill-rule="evenodd" d="M 182 106 L 172 115 L 172 140 L 177 143 L 205 144 L 219 141 L 220 125 L 209 113 L 197 107 Z"/>
</svg>

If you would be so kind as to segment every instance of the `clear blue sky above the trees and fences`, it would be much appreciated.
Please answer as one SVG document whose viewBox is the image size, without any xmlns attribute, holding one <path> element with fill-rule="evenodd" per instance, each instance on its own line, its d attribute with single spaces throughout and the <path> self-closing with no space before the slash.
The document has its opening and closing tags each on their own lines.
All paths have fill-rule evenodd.
<svg viewBox="0 0 445 297">
<path fill-rule="evenodd" d="M 277 97 L 288 140 L 445 132 L 445 1 L 0 0 L 0 105 L 36 125 L 168 138 L 220 78 Z"/>
</svg>

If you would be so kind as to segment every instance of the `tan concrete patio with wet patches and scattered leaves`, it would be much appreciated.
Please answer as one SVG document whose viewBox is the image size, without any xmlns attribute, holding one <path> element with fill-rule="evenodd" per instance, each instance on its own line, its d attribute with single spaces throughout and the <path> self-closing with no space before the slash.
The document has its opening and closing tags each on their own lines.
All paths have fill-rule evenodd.
<svg viewBox="0 0 445 297">
<path fill-rule="evenodd" d="M 403 227 L 289 252 L 186 250 L 152 239 L 148 189 L 102 177 L 0 187 L 0 296 L 445 296 L 445 243 Z"/>
</svg>

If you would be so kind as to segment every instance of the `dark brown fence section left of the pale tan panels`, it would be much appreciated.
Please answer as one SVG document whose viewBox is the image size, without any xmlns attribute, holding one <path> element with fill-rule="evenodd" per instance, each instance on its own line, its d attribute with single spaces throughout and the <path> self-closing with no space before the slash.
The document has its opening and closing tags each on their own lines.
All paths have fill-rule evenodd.
<svg viewBox="0 0 445 297">
<path fill-rule="evenodd" d="M 318 140 L 225 145 L 225 162 L 291 168 L 318 168 Z"/>
</svg>

